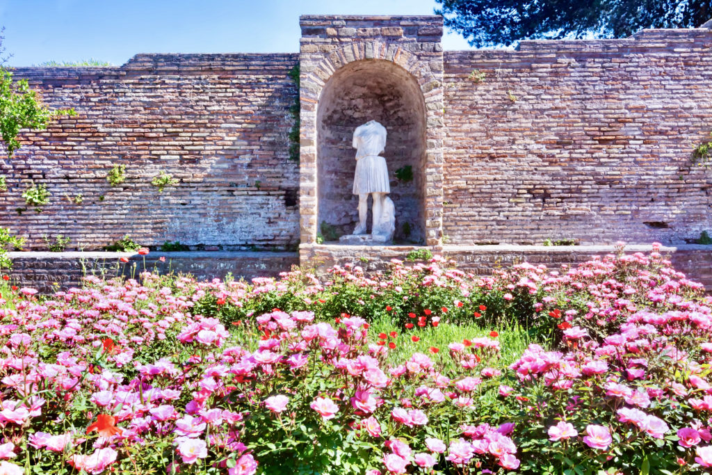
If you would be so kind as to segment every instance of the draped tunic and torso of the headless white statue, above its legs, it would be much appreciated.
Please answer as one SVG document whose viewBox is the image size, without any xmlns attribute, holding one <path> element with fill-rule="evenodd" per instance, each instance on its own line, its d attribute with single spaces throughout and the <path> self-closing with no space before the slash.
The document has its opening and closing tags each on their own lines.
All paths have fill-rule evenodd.
<svg viewBox="0 0 712 475">
<path fill-rule="evenodd" d="M 375 120 L 357 127 L 353 147 L 356 149 L 353 194 L 390 193 L 386 159 L 379 156 L 386 147 L 386 127 Z"/>
</svg>

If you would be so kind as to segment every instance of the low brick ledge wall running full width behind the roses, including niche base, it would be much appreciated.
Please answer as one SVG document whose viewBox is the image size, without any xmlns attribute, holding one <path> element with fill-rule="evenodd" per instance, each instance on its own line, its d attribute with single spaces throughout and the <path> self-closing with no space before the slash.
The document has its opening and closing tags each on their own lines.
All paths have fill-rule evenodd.
<svg viewBox="0 0 712 475">
<path fill-rule="evenodd" d="M 419 246 L 342 246 L 321 244 L 303 246 L 300 255 L 291 252 L 192 251 L 151 253 L 145 266 L 160 273 L 190 273 L 198 279 L 224 278 L 232 273 L 236 278 L 278 276 L 301 262 L 325 273 L 335 264 L 352 263 L 373 273 L 387 268 L 391 259 L 405 259 L 409 252 L 427 249 Z M 650 245 L 627 246 L 627 253 L 649 252 Z M 515 263 L 529 262 L 558 268 L 562 264 L 575 266 L 591 256 L 615 252 L 613 246 L 444 246 L 434 254 L 454 259 L 460 269 L 478 275 L 488 275 L 495 268 L 506 268 Z M 664 246 L 661 253 L 670 256 L 676 270 L 704 284 L 712 292 L 712 246 Z M 164 256 L 165 262 L 159 261 Z M 87 274 L 131 276 L 144 268 L 143 256 L 120 252 L 11 252 L 15 281 L 33 286 L 43 292 L 54 288 L 75 286 Z M 119 259 L 127 257 L 129 262 Z"/>
</svg>

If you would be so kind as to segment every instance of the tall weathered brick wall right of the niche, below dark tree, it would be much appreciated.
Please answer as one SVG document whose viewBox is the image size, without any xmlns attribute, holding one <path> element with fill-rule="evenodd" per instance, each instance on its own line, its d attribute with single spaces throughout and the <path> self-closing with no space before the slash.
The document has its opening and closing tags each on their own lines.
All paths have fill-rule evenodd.
<svg viewBox="0 0 712 475">
<path fill-rule="evenodd" d="M 449 242 L 681 243 L 712 229 L 712 170 L 690 162 L 712 132 L 711 30 L 444 61 Z"/>
</svg>

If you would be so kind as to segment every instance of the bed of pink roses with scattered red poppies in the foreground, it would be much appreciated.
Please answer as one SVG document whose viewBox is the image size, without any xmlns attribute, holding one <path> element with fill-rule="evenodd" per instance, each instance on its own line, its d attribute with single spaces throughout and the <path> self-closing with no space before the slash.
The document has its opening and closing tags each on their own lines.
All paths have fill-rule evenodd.
<svg viewBox="0 0 712 475">
<path fill-rule="evenodd" d="M 712 301 L 656 251 L 140 277 L 1 289 L 0 474 L 712 467 Z"/>
</svg>

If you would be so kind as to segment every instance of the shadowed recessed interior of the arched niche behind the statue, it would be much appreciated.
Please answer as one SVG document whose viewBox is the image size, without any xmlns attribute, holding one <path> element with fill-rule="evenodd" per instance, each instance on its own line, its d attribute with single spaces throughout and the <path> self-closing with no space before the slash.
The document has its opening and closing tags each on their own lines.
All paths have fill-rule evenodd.
<svg viewBox="0 0 712 475">
<path fill-rule="evenodd" d="M 385 60 L 355 61 L 337 70 L 324 85 L 317 107 L 318 229 L 326 223 L 350 234 L 358 221 L 352 194 L 356 169 L 353 132 L 377 120 L 388 137 L 382 154 L 388 164 L 390 197 L 396 210 L 396 242 L 425 240 L 425 101 L 417 80 Z M 396 178 L 412 168 L 413 179 Z M 371 231 L 369 204 L 368 232 Z"/>
</svg>

